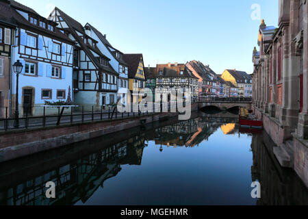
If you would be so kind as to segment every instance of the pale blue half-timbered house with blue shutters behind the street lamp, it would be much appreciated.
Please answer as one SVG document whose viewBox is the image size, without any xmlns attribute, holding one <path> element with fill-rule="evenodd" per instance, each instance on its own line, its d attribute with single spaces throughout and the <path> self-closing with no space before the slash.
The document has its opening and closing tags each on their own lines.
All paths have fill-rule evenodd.
<svg viewBox="0 0 308 219">
<path fill-rule="evenodd" d="M 9 1 L 10 17 L 17 28 L 12 47 L 12 64 L 23 64 L 18 83 L 19 112 L 23 116 L 42 115 L 45 101 L 72 100 L 74 42 L 57 29 L 57 23 L 31 8 Z M 11 101 L 16 100 L 16 74 L 12 73 Z M 14 104 L 12 104 L 14 106 Z M 12 112 L 14 112 L 12 107 Z M 51 110 L 49 113 L 53 113 Z M 47 112 L 47 114 L 48 114 Z"/>
</svg>

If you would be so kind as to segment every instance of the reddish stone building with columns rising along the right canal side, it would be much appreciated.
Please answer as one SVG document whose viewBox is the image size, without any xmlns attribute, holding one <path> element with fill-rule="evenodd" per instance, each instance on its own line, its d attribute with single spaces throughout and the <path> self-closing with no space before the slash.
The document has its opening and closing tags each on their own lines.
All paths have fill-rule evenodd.
<svg viewBox="0 0 308 219">
<path fill-rule="evenodd" d="M 308 186 L 308 2 L 279 1 L 279 27 L 259 27 L 253 51 L 253 107 L 281 166 Z"/>
</svg>

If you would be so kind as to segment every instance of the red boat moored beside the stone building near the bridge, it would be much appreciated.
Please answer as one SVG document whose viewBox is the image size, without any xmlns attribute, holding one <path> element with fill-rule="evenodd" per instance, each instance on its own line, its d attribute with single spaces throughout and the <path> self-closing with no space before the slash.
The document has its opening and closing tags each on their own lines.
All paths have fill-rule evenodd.
<svg viewBox="0 0 308 219">
<path fill-rule="evenodd" d="M 244 129 L 263 129 L 263 122 L 257 120 L 252 111 L 245 108 L 240 108 L 239 124 Z"/>
</svg>

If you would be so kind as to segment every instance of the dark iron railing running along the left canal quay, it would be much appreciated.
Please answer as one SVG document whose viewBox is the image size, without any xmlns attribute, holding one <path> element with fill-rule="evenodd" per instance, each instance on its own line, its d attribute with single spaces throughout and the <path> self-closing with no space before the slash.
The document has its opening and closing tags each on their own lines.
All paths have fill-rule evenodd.
<svg viewBox="0 0 308 219">
<path fill-rule="evenodd" d="M 31 129 L 36 127 L 56 127 L 59 125 L 73 125 L 77 123 L 88 123 L 103 120 L 114 120 L 118 118 L 133 118 L 153 114 L 152 112 L 118 112 L 117 107 L 99 109 L 92 107 L 23 107 L 19 118 L 14 118 L 14 112 L 10 116 L 9 107 L 0 107 L 0 131 L 18 129 Z M 32 116 L 31 112 L 34 112 Z M 16 126 L 18 120 L 18 127 Z"/>
</svg>

